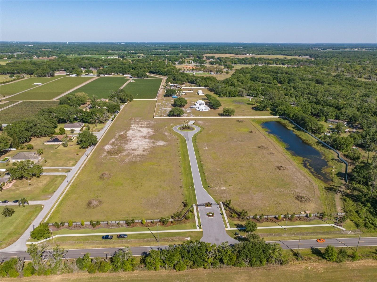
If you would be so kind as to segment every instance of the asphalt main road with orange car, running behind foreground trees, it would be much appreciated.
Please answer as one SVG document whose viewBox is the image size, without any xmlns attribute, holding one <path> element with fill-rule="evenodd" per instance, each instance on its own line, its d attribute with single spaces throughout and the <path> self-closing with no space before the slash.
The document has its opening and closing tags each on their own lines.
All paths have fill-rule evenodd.
<svg viewBox="0 0 377 282">
<path fill-rule="evenodd" d="M 114 239 L 113 239 L 114 240 Z M 117 240 L 117 239 L 115 239 Z M 333 245 L 334 247 L 352 247 L 352 249 L 356 250 L 357 242 L 359 241 L 359 237 L 357 238 L 338 238 L 338 239 L 326 239 L 325 243 L 317 243 L 316 240 L 301 240 L 300 241 L 300 248 L 325 248 L 328 245 Z M 238 241 L 236 241 L 238 242 Z M 298 240 L 291 240 L 291 241 L 268 241 L 267 243 L 279 243 L 280 246 L 284 250 L 293 249 L 296 250 L 299 241 Z M 377 246 L 377 237 L 368 237 L 368 238 L 361 238 L 359 246 Z M 167 248 L 167 246 L 160 246 L 160 248 Z M 119 248 L 93 248 L 93 249 L 72 249 L 68 250 L 67 258 L 74 259 L 77 257 L 82 257 L 85 253 L 90 253 L 91 257 L 104 257 L 107 255 L 112 255 L 116 250 Z M 157 250 L 158 247 L 156 246 L 145 246 L 145 247 L 131 247 L 133 256 L 141 256 L 147 254 L 150 250 L 154 249 Z M 3 259 L 9 259 L 10 257 L 16 256 L 24 256 L 26 260 L 29 259 L 29 254 L 25 251 L 19 252 L 0 252 L 0 257 Z"/>
</svg>

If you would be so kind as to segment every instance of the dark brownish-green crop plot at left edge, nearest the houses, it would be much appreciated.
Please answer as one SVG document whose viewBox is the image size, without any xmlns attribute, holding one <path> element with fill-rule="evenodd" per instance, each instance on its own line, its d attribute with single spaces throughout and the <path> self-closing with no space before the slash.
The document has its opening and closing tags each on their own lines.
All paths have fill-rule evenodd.
<svg viewBox="0 0 377 282">
<path fill-rule="evenodd" d="M 41 109 L 57 107 L 58 104 L 58 101 L 23 101 L 17 105 L 9 107 L 8 109 L 2 110 L 0 112 L 1 123 L 11 124 L 15 121 L 23 120 L 24 118 L 34 115 Z"/>
</svg>

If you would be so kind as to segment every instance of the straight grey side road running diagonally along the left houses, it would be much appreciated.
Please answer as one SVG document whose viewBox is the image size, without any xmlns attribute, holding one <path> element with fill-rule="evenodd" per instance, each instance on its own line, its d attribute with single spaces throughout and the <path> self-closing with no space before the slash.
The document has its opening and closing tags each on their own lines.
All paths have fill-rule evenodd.
<svg viewBox="0 0 377 282">
<path fill-rule="evenodd" d="M 121 107 L 123 109 L 124 106 Z M 103 129 L 99 132 L 95 132 L 94 134 L 97 136 L 98 140 L 103 136 L 103 134 L 106 132 L 107 128 L 112 123 L 111 117 L 110 120 L 107 121 L 106 125 L 103 127 Z M 97 144 L 99 144 L 98 142 Z M 87 156 L 89 156 L 90 152 L 95 148 L 95 146 L 89 147 L 84 155 L 80 158 L 80 160 L 77 162 L 75 167 L 67 173 L 67 177 L 64 179 L 64 181 L 60 184 L 59 188 L 56 190 L 56 192 L 51 196 L 50 199 L 43 201 L 43 210 L 37 215 L 37 217 L 34 219 L 34 221 L 31 222 L 30 226 L 26 231 L 21 235 L 20 238 L 16 242 L 14 242 L 12 245 L 0 250 L 0 252 L 13 252 L 13 251 L 25 251 L 26 250 L 26 242 L 28 241 L 30 237 L 30 232 L 33 230 L 33 225 L 38 226 L 43 219 L 49 214 L 49 211 L 52 207 L 54 207 L 56 204 L 58 204 L 58 200 L 60 200 L 60 196 L 64 195 L 64 190 L 66 189 L 68 182 L 73 180 L 72 178 L 75 176 L 76 172 L 80 170 L 81 165 L 86 161 Z M 31 201 L 32 202 L 32 201 Z M 31 202 L 29 202 L 31 204 Z M 34 201 L 33 201 L 34 202 Z M 42 202 L 42 201 L 41 201 Z M 55 204 L 56 203 L 56 204 Z M 9 204 L 9 203 L 8 203 Z M 34 204 L 34 203 L 33 203 Z M 3 205 L 3 204 L 2 204 Z M 48 216 L 47 216 L 48 217 Z"/>
</svg>

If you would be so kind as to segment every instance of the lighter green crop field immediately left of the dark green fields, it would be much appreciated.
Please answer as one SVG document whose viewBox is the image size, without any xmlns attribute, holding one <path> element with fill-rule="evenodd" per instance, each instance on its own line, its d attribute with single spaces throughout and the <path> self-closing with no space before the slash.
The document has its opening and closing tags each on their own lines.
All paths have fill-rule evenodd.
<svg viewBox="0 0 377 282">
<path fill-rule="evenodd" d="M 89 79 L 90 77 L 62 77 L 56 81 L 17 94 L 5 100 L 51 100 Z"/>
</svg>

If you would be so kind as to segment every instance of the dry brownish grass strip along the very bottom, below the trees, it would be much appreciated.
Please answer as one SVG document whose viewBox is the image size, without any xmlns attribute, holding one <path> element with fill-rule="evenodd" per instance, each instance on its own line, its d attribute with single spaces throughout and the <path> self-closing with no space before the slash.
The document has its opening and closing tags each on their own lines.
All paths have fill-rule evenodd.
<svg viewBox="0 0 377 282">
<path fill-rule="evenodd" d="M 55 282 L 98 282 L 111 280 L 112 282 L 123 281 L 196 281 L 205 277 L 206 281 L 217 281 L 219 277 L 223 281 L 373 281 L 376 274 L 376 261 L 345 262 L 342 264 L 331 262 L 298 262 L 289 265 L 269 265 L 256 268 L 211 268 L 191 269 L 186 271 L 143 271 L 113 272 L 113 273 L 71 273 L 51 275 L 49 279 Z M 44 282 L 44 276 L 23 277 L 25 282 Z M 5 282 L 14 281 L 14 278 L 3 278 Z"/>
</svg>

